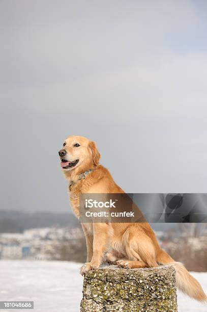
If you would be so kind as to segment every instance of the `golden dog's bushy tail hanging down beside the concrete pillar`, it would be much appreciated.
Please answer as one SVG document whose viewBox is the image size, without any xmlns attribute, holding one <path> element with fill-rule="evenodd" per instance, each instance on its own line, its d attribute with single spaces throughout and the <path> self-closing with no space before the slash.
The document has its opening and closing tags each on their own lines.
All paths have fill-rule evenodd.
<svg viewBox="0 0 207 312">
<path fill-rule="evenodd" d="M 207 297 L 200 283 L 186 270 L 181 262 L 175 262 L 164 250 L 160 250 L 157 261 L 161 264 L 171 265 L 175 269 L 175 279 L 178 289 L 189 297 L 207 302 Z"/>
</svg>

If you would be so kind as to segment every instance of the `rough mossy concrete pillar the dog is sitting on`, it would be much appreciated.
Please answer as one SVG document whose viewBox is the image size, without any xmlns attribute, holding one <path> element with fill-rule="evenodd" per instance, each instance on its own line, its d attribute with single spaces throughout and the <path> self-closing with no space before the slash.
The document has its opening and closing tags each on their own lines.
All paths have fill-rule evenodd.
<svg viewBox="0 0 207 312">
<path fill-rule="evenodd" d="M 102 266 L 84 276 L 81 312 L 177 312 L 175 271 L 170 266 L 121 269 Z"/>
</svg>

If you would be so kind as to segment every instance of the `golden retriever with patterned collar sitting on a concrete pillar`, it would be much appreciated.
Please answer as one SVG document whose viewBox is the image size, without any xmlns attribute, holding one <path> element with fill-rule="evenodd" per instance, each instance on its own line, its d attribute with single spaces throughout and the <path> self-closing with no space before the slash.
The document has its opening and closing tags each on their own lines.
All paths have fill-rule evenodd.
<svg viewBox="0 0 207 312">
<path fill-rule="evenodd" d="M 68 137 L 58 152 L 61 167 L 69 181 L 69 197 L 74 214 L 79 218 L 79 195 L 82 193 L 124 193 L 110 172 L 99 164 L 96 144 L 84 137 Z M 87 260 L 81 274 L 97 269 L 106 261 L 123 268 L 151 268 L 162 264 L 175 269 L 177 287 L 198 301 L 206 301 L 199 282 L 184 265 L 175 262 L 161 247 L 147 222 L 82 223 L 87 246 Z"/>
</svg>

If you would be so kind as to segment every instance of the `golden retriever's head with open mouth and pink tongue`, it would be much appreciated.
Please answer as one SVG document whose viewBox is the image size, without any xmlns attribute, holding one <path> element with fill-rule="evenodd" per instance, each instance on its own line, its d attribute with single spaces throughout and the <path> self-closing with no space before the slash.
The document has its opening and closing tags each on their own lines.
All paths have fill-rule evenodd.
<svg viewBox="0 0 207 312">
<path fill-rule="evenodd" d="M 77 167 L 81 170 L 94 168 L 98 166 L 101 157 L 95 142 L 79 136 L 68 137 L 58 154 L 61 167 L 66 171 Z"/>
</svg>

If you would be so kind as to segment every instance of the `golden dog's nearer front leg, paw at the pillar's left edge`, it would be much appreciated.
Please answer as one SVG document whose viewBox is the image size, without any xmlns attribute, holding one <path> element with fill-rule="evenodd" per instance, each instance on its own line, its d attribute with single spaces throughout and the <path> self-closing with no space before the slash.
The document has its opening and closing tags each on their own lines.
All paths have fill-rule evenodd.
<svg viewBox="0 0 207 312">
<path fill-rule="evenodd" d="M 83 275 L 89 270 L 97 269 L 102 262 L 104 252 L 109 244 L 110 225 L 106 223 L 94 223 L 93 257 L 91 262 L 86 262 L 80 273 Z"/>
</svg>

